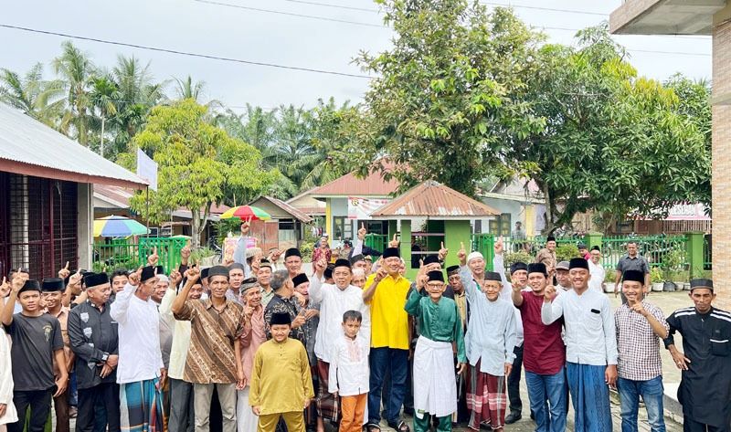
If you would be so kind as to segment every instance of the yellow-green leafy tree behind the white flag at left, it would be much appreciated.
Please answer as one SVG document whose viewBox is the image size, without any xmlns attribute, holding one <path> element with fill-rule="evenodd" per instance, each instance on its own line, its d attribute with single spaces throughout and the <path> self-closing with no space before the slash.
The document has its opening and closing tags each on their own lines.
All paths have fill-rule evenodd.
<svg viewBox="0 0 731 432">
<path fill-rule="evenodd" d="M 207 108 L 194 100 L 154 108 L 133 144 L 154 153 L 158 190 L 150 191 L 149 213 L 144 194 L 132 197 L 132 209 L 159 222 L 169 212 L 186 208 L 192 214 L 194 248 L 206 227 L 210 206 L 220 203 L 226 191 L 256 195 L 274 177 L 260 168 L 258 150 L 209 124 Z"/>
</svg>

